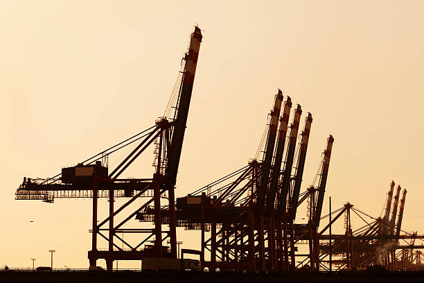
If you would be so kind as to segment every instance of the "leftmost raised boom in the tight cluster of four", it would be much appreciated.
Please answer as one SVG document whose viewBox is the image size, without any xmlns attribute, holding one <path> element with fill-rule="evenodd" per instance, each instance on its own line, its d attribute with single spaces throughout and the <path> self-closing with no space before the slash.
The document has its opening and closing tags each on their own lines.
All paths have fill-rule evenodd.
<svg viewBox="0 0 424 283">
<path fill-rule="evenodd" d="M 258 209 L 262 209 L 265 203 L 265 196 L 267 193 L 268 180 L 270 178 L 270 169 L 272 162 L 272 155 L 274 153 L 275 139 L 277 126 L 279 124 L 279 117 L 281 111 L 281 103 L 283 102 L 283 92 L 279 89 L 278 94 L 275 96 L 274 108 L 271 111 L 271 123 L 268 130 L 267 146 L 265 147 L 265 158 L 262 164 L 262 175 L 260 178 L 260 186 L 257 196 Z"/>
</svg>

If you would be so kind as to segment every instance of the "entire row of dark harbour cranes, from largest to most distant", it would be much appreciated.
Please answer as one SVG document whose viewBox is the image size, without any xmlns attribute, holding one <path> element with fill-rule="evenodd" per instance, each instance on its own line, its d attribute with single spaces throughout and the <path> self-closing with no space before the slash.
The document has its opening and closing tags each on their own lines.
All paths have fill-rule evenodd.
<svg viewBox="0 0 424 283">
<path fill-rule="evenodd" d="M 51 178 L 24 178 L 15 193 L 16 199 L 53 203 L 55 198 L 91 198 L 89 264 L 96 266 L 98 259 L 105 259 L 108 271 L 112 271 L 116 260 L 177 259 L 177 227 L 200 230 L 200 250 L 184 249 L 182 254 L 200 255 L 202 269 L 209 271 L 287 271 L 301 266 L 328 270 L 326 258 L 330 257 L 331 268 L 332 244 L 335 255 L 337 252 L 342 255 L 339 261 L 344 264 L 339 268 L 358 266 L 361 255 L 357 253 L 355 241 L 363 239 L 355 238 L 357 235 L 351 231 L 350 213 L 357 210 L 353 205 L 347 204 L 330 213 L 328 217 L 335 214 L 333 220 L 320 232 L 318 230 L 323 221 L 321 212 L 333 136 L 326 141 L 314 184 L 301 191 L 312 114 L 306 115 L 299 134 L 301 106 L 296 105 L 292 110 L 291 98 L 287 96 L 284 101 L 281 90 L 275 95 L 265 142 L 260 146 L 262 156 L 256 156 L 241 169 L 187 196 L 175 198 L 201 42 L 202 32 L 195 27 L 179 72 L 179 87 L 172 96 L 175 99 L 171 99 L 169 105 L 172 107 L 166 117 L 76 166 L 63 168 Z M 293 113 L 291 123 L 290 112 Z M 130 147 L 130 154 L 109 172 L 109 157 Z M 134 160 L 151 147 L 154 147 L 153 176 L 121 178 Z M 393 194 L 393 188 L 391 191 Z M 406 191 L 400 205 L 402 212 L 405 195 Z M 103 219 L 98 217 L 99 198 L 109 200 L 107 217 Z M 117 207 L 116 198 L 123 198 L 125 202 Z M 395 200 L 397 203 L 398 193 Z M 303 203 L 308 206 L 307 223 L 295 223 Z M 391 223 L 393 215 L 396 216 L 394 210 L 395 214 L 388 218 L 390 207 L 387 208 L 385 217 L 371 224 L 375 229 L 366 230 L 360 237 L 373 237 L 372 241 L 378 238 L 380 246 L 400 239 L 402 214 L 398 218 L 398 230 L 394 230 L 395 225 Z M 332 239 L 326 231 L 342 214 L 347 219 L 346 233 L 334 235 Z M 134 218 L 138 221 L 130 221 Z M 145 228 L 149 222 L 153 224 Z M 164 229 L 166 225 L 168 229 Z M 382 234 L 378 234 L 380 232 Z M 124 240 L 126 233 L 133 237 Z M 98 239 L 105 240 L 107 248 L 99 248 Z M 170 247 L 166 243 L 170 243 Z M 326 247 L 328 243 L 330 248 Z M 308 252 L 298 249 L 301 244 L 308 244 Z M 378 258 L 392 262 L 393 253 L 390 252 L 381 252 Z"/>
</svg>

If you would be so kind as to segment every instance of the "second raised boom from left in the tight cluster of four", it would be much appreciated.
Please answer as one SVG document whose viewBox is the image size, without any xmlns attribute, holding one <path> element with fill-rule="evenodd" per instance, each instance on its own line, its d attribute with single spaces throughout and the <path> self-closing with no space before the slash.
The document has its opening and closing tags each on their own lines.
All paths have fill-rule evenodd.
<svg viewBox="0 0 424 283">
<path fill-rule="evenodd" d="M 279 185 L 281 162 L 283 162 L 283 152 L 285 144 L 285 136 L 287 135 L 288 120 L 290 118 L 290 109 L 292 108 L 292 99 L 287 96 L 284 103 L 283 116 L 280 118 L 279 139 L 276 146 L 276 154 L 274 158 L 274 166 L 272 167 L 272 177 L 270 185 L 270 194 L 267 198 L 267 210 L 274 210 L 276 188 Z"/>
</svg>

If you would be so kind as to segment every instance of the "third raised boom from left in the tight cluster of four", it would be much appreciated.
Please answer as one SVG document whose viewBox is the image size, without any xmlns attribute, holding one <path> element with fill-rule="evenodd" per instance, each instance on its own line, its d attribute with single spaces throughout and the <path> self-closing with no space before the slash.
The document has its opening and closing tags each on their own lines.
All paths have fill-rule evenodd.
<svg viewBox="0 0 424 283">
<path fill-rule="evenodd" d="M 283 181 L 281 182 L 280 197 L 278 204 L 278 216 L 285 214 L 285 209 L 287 205 L 287 194 L 290 186 L 290 177 L 292 175 L 292 166 L 294 152 L 296 151 L 296 141 L 297 141 L 297 132 L 299 131 L 299 121 L 302 114 L 301 105 L 297 105 L 297 108 L 294 110 L 294 119 L 293 123 L 290 125 L 290 134 L 289 134 L 289 145 L 288 151 L 285 155 L 285 166 L 283 173 Z"/>
</svg>

